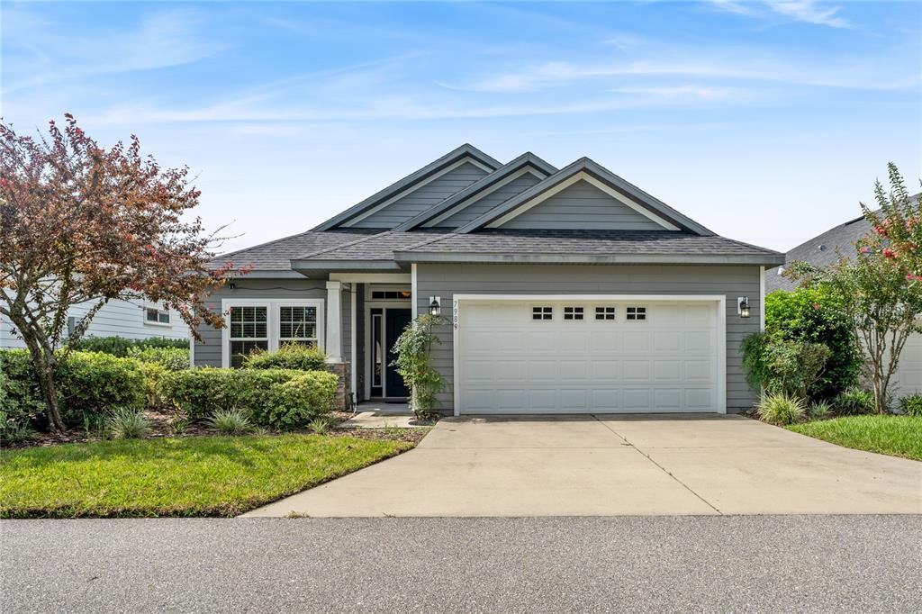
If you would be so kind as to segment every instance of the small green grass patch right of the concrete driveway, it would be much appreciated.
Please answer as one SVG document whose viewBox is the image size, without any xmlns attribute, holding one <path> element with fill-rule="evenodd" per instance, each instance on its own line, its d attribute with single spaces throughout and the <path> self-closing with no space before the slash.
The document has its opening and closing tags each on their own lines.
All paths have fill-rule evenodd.
<svg viewBox="0 0 922 614">
<path fill-rule="evenodd" d="M 922 460 L 922 418 L 845 416 L 786 427 L 846 448 Z"/>
</svg>

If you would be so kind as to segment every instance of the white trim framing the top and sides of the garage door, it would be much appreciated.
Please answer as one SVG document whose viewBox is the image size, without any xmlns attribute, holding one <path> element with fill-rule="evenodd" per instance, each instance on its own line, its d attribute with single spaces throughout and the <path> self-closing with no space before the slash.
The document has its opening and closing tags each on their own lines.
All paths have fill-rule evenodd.
<svg viewBox="0 0 922 614">
<path fill-rule="evenodd" d="M 462 301 L 660 301 L 714 302 L 717 325 L 717 413 L 727 413 L 727 296 L 724 294 L 455 294 L 452 298 L 452 388 L 455 416 L 461 415 L 458 343 Z"/>
</svg>

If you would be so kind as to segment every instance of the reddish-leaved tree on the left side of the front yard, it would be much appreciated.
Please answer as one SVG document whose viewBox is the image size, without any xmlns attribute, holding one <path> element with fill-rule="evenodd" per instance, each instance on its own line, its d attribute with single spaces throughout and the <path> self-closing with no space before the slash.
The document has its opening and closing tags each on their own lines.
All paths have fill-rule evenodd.
<svg viewBox="0 0 922 614">
<path fill-rule="evenodd" d="M 70 114 L 35 137 L 0 120 L 0 313 L 29 348 L 52 431 L 65 428 L 58 364 L 107 302 L 163 303 L 196 338 L 224 325 L 204 300 L 233 265 L 208 266 L 219 240 L 186 215 L 199 194 L 188 169 L 161 169 L 136 136 L 106 149 Z M 77 303 L 89 312 L 65 335 Z"/>
</svg>

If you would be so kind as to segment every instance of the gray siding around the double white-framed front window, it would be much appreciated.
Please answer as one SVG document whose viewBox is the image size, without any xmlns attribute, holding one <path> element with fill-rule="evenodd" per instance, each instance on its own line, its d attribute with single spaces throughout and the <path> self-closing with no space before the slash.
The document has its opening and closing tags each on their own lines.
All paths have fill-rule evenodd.
<svg viewBox="0 0 922 614">
<path fill-rule="evenodd" d="M 208 297 L 206 305 L 221 310 L 221 299 L 326 299 L 323 279 L 239 279 L 236 289 L 224 287 Z M 221 331 L 212 326 L 199 328 L 202 341 L 195 342 L 195 366 L 221 366 Z"/>
</svg>

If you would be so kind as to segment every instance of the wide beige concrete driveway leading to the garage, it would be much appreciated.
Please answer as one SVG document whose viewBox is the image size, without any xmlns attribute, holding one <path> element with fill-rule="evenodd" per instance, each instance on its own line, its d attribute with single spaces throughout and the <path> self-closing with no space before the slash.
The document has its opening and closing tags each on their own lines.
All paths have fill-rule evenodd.
<svg viewBox="0 0 922 614">
<path fill-rule="evenodd" d="M 922 514 L 922 463 L 737 416 L 449 418 L 248 516 Z"/>
</svg>

